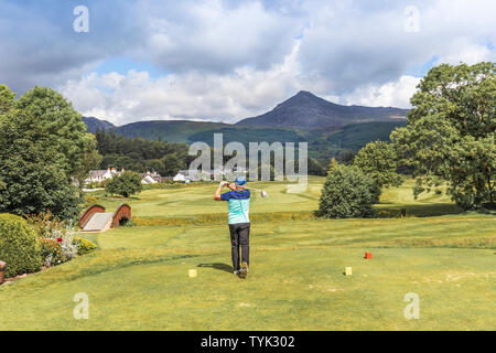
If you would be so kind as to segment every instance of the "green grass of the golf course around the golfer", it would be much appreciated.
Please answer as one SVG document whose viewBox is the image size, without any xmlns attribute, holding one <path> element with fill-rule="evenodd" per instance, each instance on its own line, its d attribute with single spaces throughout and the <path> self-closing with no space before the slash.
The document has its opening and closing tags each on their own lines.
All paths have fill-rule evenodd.
<svg viewBox="0 0 496 353">
<path fill-rule="evenodd" d="M 233 275 L 216 183 L 93 193 L 132 225 L 83 234 L 98 249 L 0 287 L 0 330 L 494 330 L 496 214 L 463 212 L 413 182 L 385 190 L 378 218 L 323 220 L 324 178 L 305 193 L 256 182 L 250 269 Z M 371 259 L 365 259 L 366 252 Z M 345 276 L 345 267 L 353 268 Z M 188 271 L 196 269 L 196 277 Z M 89 300 L 76 320 L 76 293 Z M 407 319 L 407 293 L 419 318 Z"/>
</svg>

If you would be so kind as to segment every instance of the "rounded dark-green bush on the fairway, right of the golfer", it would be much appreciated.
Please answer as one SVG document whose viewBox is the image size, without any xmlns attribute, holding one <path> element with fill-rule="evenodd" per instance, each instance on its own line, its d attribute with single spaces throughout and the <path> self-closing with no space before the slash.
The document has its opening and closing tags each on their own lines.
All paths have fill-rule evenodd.
<svg viewBox="0 0 496 353">
<path fill-rule="evenodd" d="M 366 218 L 376 215 L 377 200 L 374 181 L 357 167 L 337 165 L 327 176 L 319 203 L 326 218 Z"/>
</svg>

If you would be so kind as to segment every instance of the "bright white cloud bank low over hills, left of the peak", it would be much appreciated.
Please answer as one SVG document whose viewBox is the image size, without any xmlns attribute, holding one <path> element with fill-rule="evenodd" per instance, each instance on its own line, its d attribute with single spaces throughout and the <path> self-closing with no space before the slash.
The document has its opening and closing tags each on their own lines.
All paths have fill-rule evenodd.
<svg viewBox="0 0 496 353">
<path fill-rule="evenodd" d="M 296 54 L 298 43 L 282 63 L 267 71 L 244 66 L 231 74 L 190 71 L 152 78 L 136 71 L 91 73 L 60 90 L 83 115 L 117 125 L 151 119 L 235 122 L 273 108 L 301 88 Z"/>
</svg>

